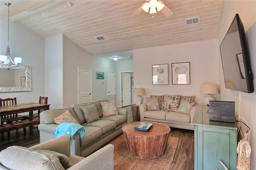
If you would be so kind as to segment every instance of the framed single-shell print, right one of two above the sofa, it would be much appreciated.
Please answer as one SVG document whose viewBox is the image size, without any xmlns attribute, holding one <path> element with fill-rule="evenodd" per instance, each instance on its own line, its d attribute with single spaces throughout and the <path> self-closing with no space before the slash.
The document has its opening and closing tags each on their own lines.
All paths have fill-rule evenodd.
<svg viewBox="0 0 256 170">
<path fill-rule="evenodd" d="M 190 84 L 190 62 L 172 63 L 172 84 Z"/>
</svg>

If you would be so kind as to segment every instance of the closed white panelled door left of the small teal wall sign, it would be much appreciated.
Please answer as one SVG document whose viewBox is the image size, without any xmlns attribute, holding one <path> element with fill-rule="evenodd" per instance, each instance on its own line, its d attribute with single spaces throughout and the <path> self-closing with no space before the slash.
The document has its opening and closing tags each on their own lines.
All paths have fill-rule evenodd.
<svg viewBox="0 0 256 170">
<path fill-rule="evenodd" d="M 91 102 L 92 70 L 78 68 L 78 103 Z"/>
</svg>

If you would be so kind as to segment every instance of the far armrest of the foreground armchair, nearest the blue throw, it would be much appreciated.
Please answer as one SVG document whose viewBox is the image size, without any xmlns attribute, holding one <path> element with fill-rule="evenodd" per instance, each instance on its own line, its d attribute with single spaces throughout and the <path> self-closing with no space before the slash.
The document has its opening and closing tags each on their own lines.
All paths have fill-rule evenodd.
<svg viewBox="0 0 256 170">
<path fill-rule="evenodd" d="M 54 152 L 58 152 L 66 156 L 70 156 L 70 139 L 68 135 L 63 135 L 63 136 L 51 139 L 50 141 L 46 141 L 44 143 L 34 145 L 30 147 L 30 149 L 52 150 Z"/>
</svg>

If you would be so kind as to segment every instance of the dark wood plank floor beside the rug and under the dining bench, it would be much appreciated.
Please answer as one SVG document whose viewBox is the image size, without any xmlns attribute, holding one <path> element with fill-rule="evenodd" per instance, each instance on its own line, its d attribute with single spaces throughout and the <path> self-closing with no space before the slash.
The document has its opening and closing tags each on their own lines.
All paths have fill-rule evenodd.
<svg viewBox="0 0 256 170">
<path fill-rule="evenodd" d="M 28 127 L 27 127 L 28 128 Z M 33 133 L 29 133 L 29 129 L 11 131 L 10 138 L 7 133 L 1 134 L 0 150 L 6 149 L 12 145 L 23 147 L 31 147 L 40 143 L 40 135 L 37 128 L 33 129 Z M 171 170 L 193 170 L 194 169 L 194 131 L 184 129 L 171 128 L 170 135 L 178 137 L 178 147 L 175 152 Z"/>
</svg>

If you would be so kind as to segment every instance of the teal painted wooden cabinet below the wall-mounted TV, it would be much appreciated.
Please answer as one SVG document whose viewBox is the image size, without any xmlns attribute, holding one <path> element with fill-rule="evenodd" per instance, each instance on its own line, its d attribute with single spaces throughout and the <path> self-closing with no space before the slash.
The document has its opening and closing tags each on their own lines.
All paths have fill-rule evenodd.
<svg viewBox="0 0 256 170">
<path fill-rule="evenodd" d="M 194 169 L 236 170 L 237 127 L 235 123 L 209 121 L 209 107 L 196 106 L 194 115 Z"/>
</svg>

